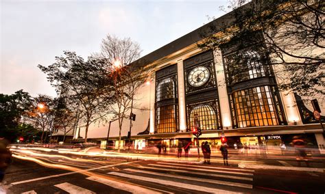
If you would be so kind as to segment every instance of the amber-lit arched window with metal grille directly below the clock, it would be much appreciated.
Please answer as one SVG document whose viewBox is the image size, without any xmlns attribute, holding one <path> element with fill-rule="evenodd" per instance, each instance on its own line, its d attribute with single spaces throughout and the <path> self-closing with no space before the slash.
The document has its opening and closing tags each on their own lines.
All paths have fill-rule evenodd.
<svg viewBox="0 0 325 194">
<path fill-rule="evenodd" d="M 199 123 L 201 130 L 217 130 L 220 129 L 221 121 L 217 100 L 209 100 L 206 102 L 194 103 L 186 106 L 188 128 L 195 127 L 196 122 Z"/>
</svg>

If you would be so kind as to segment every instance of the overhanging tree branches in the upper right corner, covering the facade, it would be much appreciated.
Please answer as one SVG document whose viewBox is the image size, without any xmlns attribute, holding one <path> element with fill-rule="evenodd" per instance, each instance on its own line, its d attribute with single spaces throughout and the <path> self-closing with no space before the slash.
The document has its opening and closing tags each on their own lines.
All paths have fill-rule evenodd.
<svg viewBox="0 0 325 194">
<path fill-rule="evenodd" d="M 230 1 L 234 11 L 228 15 L 228 22 L 202 31 L 206 39 L 198 46 L 208 50 L 237 42 L 239 48 L 245 48 L 259 42 L 256 46 L 272 57 L 271 64 L 283 70 L 277 72 L 283 79 L 280 89 L 292 89 L 301 96 L 324 96 L 324 1 L 244 3 Z M 237 56 L 240 60 L 243 55 Z"/>
</svg>

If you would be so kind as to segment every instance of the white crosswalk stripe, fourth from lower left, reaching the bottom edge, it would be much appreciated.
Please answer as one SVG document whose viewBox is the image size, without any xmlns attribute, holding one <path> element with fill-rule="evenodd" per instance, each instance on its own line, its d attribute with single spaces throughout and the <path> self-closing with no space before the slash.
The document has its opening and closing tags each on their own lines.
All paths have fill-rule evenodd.
<svg viewBox="0 0 325 194">
<path fill-rule="evenodd" d="M 206 186 L 198 186 L 198 185 L 194 185 L 194 184 L 186 184 L 186 183 L 182 183 L 182 182 L 175 182 L 175 181 L 170 181 L 170 180 L 162 180 L 162 179 L 158 179 L 158 178 L 148 178 L 145 176 L 135 176 L 132 174 L 123 174 L 123 173 L 119 173 L 119 172 L 110 172 L 108 174 L 111 175 L 115 175 L 115 176 L 120 176 L 120 177 L 124 177 L 124 178 L 132 178 L 135 180 L 143 180 L 143 181 L 147 181 L 147 182 L 155 182 L 155 183 L 159 183 L 159 184 L 165 184 L 168 186 L 177 186 L 180 188 L 189 188 L 191 190 L 195 190 L 195 191 L 205 191 L 208 193 L 237 193 L 237 192 L 232 192 L 232 191 L 226 191 L 226 190 L 222 190 L 222 189 L 214 189 L 214 188 L 208 188 Z"/>
</svg>

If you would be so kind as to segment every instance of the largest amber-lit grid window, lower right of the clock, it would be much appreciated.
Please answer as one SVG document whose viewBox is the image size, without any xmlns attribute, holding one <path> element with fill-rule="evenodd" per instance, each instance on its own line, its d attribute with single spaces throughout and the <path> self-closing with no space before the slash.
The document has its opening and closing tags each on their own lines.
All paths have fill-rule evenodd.
<svg viewBox="0 0 325 194">
<path fill-rule="evenodd" d="M 236 115 L 237 127 L 274 126 L 284 124 L 278 97 L 272 95 L 274 88 L 268 85 L 234 92 L 232 114 Z"/>
</svg>

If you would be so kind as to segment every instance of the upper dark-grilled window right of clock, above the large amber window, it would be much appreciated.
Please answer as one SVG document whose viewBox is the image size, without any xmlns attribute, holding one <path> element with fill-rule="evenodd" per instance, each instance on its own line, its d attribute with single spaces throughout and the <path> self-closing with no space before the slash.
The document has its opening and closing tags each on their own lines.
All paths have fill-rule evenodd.
<svg viewBox="0 0 325 194">
<path fill-rule="evenodd" d="M 258 51 L 237 51 L 226 55 L 224 61 L 228 85 L 271 75 L 269 59 Z"/>
</svg>

